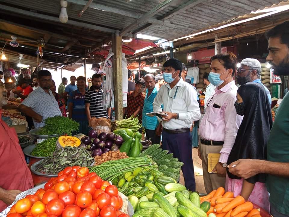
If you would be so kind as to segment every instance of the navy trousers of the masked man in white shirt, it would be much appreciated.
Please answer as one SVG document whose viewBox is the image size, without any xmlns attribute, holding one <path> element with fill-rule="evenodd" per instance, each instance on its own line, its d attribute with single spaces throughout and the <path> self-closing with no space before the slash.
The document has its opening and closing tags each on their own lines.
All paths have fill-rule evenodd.
<svg viewBox="0 0 289 217">
<path fill-rule="evenodd" d="M 163 131 L 162 149 L 173 153 L 175 158 L 183 162 L 182 171 L 185 178 L 185 187 L 196 190 L 194 165 L 192 158 L 192 137 L 190 131 L 178 134 L 169 134 Z"/>
</svg>

